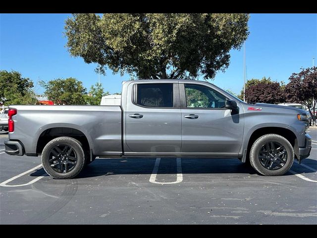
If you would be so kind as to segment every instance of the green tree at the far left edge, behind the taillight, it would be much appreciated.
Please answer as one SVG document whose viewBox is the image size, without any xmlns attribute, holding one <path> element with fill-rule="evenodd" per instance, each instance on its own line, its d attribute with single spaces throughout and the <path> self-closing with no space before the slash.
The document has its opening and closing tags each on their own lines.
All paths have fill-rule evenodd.
<svg viewBox="0 0 317 238">
<path fill-rule="evenodd" d="M 0 70 L 0 101 L 4 105 L 36 104 L 33 82 L 20 72 Z"/>
</svg>

